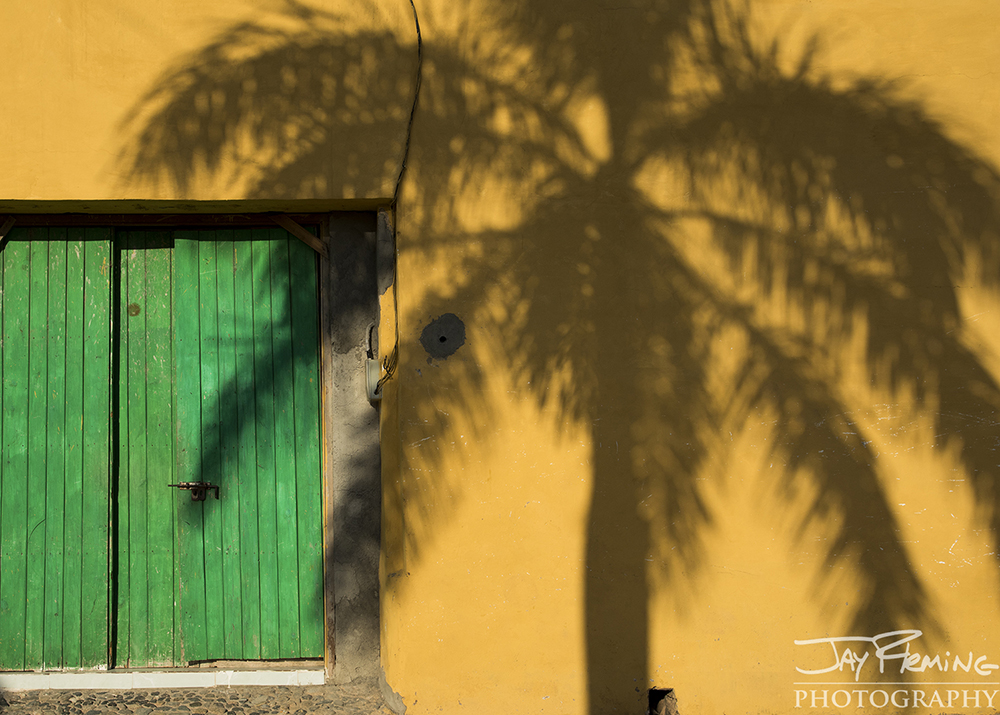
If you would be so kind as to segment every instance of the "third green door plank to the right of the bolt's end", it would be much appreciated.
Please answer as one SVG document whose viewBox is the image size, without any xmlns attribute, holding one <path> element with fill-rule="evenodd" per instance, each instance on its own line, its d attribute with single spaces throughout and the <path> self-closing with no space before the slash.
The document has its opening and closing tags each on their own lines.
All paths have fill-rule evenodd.
<svg viewBox="0 0 1000 715">
<path fill-rule="evenodd" d="M 270 234 L 253 231 L 254 389 L 257 423 L 257 528 L 260 552 L 261 657 L 279 658 L 278 554 L 275 521 L 274 363 L 271 336 Z"/>
</svg>

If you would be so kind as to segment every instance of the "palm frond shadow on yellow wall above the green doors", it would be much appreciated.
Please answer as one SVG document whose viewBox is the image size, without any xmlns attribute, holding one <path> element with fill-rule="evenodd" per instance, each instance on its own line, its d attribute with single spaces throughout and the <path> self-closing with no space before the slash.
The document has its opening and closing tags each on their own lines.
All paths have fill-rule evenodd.
<svg viewBox="0 0 1000 715">
<path fill-rule="evenodd" d="M 134 136 L 117 157 L 125 181 L 181 196 L 205 177 L 249 197 L 380 195 L 382 173 L 362 168 L 402 150 L 410 48 L 295 3 L 283 19 L 229 28 L 154 84 L 122 123 Z M 330 165 L 342 185 L 326 185 Z"/>
</svg>

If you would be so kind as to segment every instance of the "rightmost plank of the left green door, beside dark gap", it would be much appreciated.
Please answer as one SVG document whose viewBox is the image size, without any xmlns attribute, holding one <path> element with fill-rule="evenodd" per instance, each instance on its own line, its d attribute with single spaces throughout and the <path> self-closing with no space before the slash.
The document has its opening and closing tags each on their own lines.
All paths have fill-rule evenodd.
<svg viewBox="0 0 1000 715">
<path fill-rule="evenodd" d="M 81 641 L 83 665 L 93 667 L 108 663 L 111 231 L 85 235 Z"/>
</svg>

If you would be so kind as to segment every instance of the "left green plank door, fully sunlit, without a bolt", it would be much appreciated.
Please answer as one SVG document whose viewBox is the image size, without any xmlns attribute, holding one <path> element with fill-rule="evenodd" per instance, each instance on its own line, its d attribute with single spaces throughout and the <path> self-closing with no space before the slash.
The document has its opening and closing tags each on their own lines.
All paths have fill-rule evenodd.
<svg viewBox="0 0 1000 715">
<path fill-rule="evenodd" d="M 0 669 L 108 664 L 110 239 L 0 251 Z"/>
</svg>

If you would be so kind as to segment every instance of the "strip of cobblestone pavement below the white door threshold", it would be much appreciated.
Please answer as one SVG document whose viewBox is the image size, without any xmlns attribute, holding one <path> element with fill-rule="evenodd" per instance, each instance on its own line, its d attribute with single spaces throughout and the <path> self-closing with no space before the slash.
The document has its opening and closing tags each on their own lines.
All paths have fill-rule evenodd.
<svg viewBox="0 0 1000 715">
<path fill-rule="evenodd" d="M 374 684 L 0 693 L 0 715 L 392 715 Z"/>
</svg>

